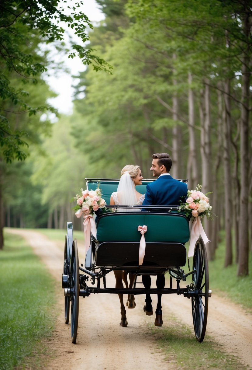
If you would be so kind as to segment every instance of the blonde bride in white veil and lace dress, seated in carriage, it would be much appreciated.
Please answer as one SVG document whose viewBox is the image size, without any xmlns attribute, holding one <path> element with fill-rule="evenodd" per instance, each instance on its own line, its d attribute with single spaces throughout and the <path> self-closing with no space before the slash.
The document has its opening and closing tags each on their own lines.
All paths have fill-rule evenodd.
<svg viewBox="0 0 252 370">
<path fill-rule="evenodd" d="M 136 185 L 142 185 L 143 179 L 139 166 L 127 164 L 123 167 L 121 175 L 117 191 L 111 194 L 110 204 L 141 205 L 144 201 L 144 194 L 136 191 Z M 136 208 L 134 211 L 140 211 L 140 208 Z M 132 209 L 119 208 L 118 212 L 132 212 Z"/>
</svg>

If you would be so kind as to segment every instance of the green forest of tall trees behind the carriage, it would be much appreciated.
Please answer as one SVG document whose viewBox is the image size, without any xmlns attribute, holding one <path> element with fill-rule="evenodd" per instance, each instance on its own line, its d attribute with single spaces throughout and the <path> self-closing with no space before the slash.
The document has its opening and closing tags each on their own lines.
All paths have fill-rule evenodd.
<svg viewBox="0 0 252 370">
<path fill-rule="evenodd" d="M 151 178 L 151 155 L 167 152 L 174 178 L 212 192 L 208 258 L 224 230 L 224 267 L 248 275 L 252 1 L 96 2 L 105 20 L 95 27 L 81 1 L 0 4 L 0 248 L 4 226 L 81 229 L 71 199 L 85 178 L 119 178 L 126 164 Z M 80 39 L 72 50 L 62 22 Z M 48 43 L 86 65 L 73 113 L 54 123 L 43 74 L 60 66 Z"/>
</svg>

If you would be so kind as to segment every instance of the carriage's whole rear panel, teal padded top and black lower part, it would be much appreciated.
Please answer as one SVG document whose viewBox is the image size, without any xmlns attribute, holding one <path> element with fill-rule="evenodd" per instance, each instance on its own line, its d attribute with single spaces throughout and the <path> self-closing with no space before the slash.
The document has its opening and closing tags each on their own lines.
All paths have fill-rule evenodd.
<svg viewBox="0 0 252 370">
<path fill-rule="evenodd" d="M 100 216 L 96 235 L 99 246 L 94 256 L 96 266 L 138 268 L 142 236 L 137 231 L 139 225 L 147 225 L 143 268 L 185 266 L 184 244 L 190 237 L 189 223 L 184 215 L 175 212 L 118 212 Z"/>
</svg>

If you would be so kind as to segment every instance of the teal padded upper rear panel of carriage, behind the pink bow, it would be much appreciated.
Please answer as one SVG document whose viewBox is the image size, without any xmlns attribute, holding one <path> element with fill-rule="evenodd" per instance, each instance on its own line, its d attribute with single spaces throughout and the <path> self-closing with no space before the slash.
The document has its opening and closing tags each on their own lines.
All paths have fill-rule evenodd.
<svg viewBox="0 0 252 370">
<path fill-rule="evenodd" d="M 190 238 L 189 223 L 181 213 L 125 212 L 106 213 L 97 223 L 99 243 L 139 242 L 138 226 L 147 225 L 146 242 L 186 243 Z"/>
</svg>

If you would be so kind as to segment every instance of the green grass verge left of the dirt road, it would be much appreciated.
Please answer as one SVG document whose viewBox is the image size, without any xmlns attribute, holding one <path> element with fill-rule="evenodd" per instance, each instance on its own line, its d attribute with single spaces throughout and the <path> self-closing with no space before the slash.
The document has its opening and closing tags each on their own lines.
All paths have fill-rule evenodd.
<svg viewBox="0 0 252 370">
<path fill-rule="evenodd" d="M 0 369 L 11 370 L 41 354 L 54 321 L 54 280 L 17 235 L 5 233 L 0 250 Z M 38 369 L 40 356 L 33 359 Z"/>
</svg>

